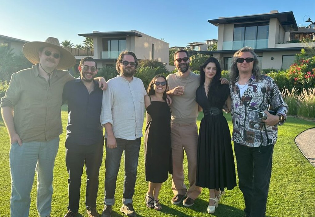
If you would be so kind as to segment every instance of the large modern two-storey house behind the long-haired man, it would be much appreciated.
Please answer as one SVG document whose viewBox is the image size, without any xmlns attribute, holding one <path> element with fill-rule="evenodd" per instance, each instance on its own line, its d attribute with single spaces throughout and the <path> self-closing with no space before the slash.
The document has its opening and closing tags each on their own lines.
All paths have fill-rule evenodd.
<svg viewBox="0 0 315 217">
<path fill-rule="evenodd" d="M 228 70 L 233 54 L 244 46 L 255 49 L 263 69 L 287 69 L 302 48 L 315 47 L 315 42 L 289 43 L 293 32 L 299 30 L 292 11 L 272 10 L 266 14 L 219 17 L 208 22 L 218 26 L 218 48 L 198 53 L 213 55 L 224 70 Z"/>
</svg>

